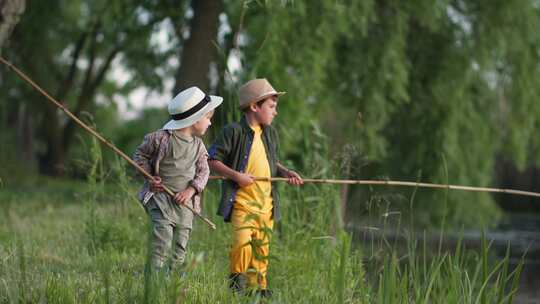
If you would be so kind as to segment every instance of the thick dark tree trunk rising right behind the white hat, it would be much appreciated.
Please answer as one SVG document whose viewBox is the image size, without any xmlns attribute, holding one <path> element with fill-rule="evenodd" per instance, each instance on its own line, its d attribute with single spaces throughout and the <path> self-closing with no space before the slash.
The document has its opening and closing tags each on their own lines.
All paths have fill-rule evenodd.
<svg viewBox="0 0 540 304">
<path fill-rule="evenodd" d="M 210 63 L 216 56 L 215 41 L 219 27 L 219 14 L 223 11 L 223 0 L 192 1 L 192 8 L 190 35 L 182 50 L 173 96 L 190 86 L 198 86 L 203 91 L 207 91 Z"/>
</svg>

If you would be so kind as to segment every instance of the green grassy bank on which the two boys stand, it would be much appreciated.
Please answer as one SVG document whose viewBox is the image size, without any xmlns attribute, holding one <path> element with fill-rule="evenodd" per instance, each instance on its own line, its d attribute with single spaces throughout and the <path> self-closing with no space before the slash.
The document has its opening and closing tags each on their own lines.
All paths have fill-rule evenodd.
<svg viewBox="0 0 540 304">
<path fill-rule="evenodd" d="M 324 186 L 282 191 L 271 299 L 228 290 L 231 228 L 214 215 L 215 184 L 204 208 L 217 230 L 196 220 L 187 275 L 150 275 L 138 182 L 103 180 L 2 184 L 0 303 L 511 303 L 516 291 L 519 268 L 490 258 L 488 244 L 429 254 L 413 239 L 405 249 L 351 243 L 333 224 L 339 193 Z"/>
</svg>

